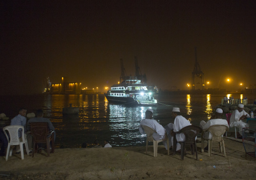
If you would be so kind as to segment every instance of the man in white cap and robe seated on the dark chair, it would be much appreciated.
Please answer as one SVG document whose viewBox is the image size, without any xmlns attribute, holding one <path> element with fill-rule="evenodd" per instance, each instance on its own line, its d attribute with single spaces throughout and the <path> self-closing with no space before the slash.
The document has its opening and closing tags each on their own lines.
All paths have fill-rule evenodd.
<svg viewBox="0 0 256 180">
<path fill-rule="evenodd" d="M 184 118 L 183 116 L 180 115 L 180 111 L 178 107 L 174 107 L 172 109 L 171 113 L 172 117 L 174 117 L 174 123 L 168 124 L 169 128 L 173 126 L 173 132 L 178 132 L 180 129 L 183 127 L 191 125 L 190 122 Z M 176 151 L 179 151 L 181 149 L 180 143 L 178 141 L 184 141 L 185 140 L 185 135 L 183 133 L 176 133 L 176 139 L 177 139 L 177 146 L 176 146 Z M 173 137 L 172 137 L 172 145 L 173 145 Z"/>
</svg>

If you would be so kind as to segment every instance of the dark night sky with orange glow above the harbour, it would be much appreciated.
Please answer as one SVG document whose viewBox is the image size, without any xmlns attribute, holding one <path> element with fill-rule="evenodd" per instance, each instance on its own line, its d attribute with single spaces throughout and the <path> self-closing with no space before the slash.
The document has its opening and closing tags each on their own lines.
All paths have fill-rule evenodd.
<svg viewBox="0 0 256 180">
<path fill-rule="evenodd" d="M 41 93 L 61 77 L 103 91 L 120 58 L 148 84 L 191 84 L 195 47 L 206 88 L 256 84 L 256 1 L 0 2 L 1 95 Z M 226 79 L 230 78 L 229 84 Z M 239 84 L 243 83 L 241 87 Z"/>
</svg>

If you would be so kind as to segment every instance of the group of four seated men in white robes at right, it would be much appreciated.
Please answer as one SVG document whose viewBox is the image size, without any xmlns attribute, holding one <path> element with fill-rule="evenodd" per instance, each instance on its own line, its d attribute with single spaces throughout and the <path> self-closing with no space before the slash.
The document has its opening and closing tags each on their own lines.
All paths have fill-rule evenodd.
<svg viewBox="0 0 256 180">
<path fill-rule="evenodd" d="M 243 110 L 243 104 L 239 104 L 237 110 L 235 110 L 230 117 L 230 127 L 237 126 L 239 127 L 239 133 L 242 135 L 242 128 L 248 127 L 248 124 L 243 122 L 242 120 L 249 117 L 249 115 Z M 211 117 L 207 122 L 201 121 L 200 127 L 205 131 L 204 139 L 212 139 L 211 132 L 207 132 L 206 130 L 212 125 L 225 125 L 229 128 L 228 122 L 226 119 L 222 119 L 223 110 L 217 108 L 215 114 Z M 142 134 L 146 134 L 143 126 L 148 126 L 154 129 L 156 132 L 153 133 L 154 140 L 163 140 L 163 144 L 165 148 L 173 147 L 173 135 L 176 133 L 176 139 L 178 141 L 185 141 L 185 135 L 183 133 L 177 133 L 183 127 L 191 125 L 190 122 L 180 115 L 180 109 L 178 107 L 173 107 L 172 109 L 172 118 L 174 118 L 174 123 L 169 123 L 166 126 L 160 125 L 156 120 L 153 119 L 153 109 L 149 108 L 145 112 L 145 119 L 143 119 L 140 123 L 139 131 Z M 169 147 L 167 147 L 167 136 L 169 139 Z M 208 146 L 207 146 L 208 147 Z M 208 150 L 206 147 L 205 150 Z M 176 144 L 176 151 L 180 152 L 181 145 L 179 143 Z"/>
</svg>

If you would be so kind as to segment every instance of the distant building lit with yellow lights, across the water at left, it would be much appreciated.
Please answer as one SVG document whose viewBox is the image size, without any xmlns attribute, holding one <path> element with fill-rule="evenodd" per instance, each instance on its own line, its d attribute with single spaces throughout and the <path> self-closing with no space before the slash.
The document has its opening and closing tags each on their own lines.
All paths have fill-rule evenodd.
<svg viewBox="0 0 256 180">
<path fill-rule="evenodd" d="M 52 94 L 81 94 L 80 82 L 68 82 L 66 77 L 62 77 L 61 83 L 52 84 Z"/>
</svg>

